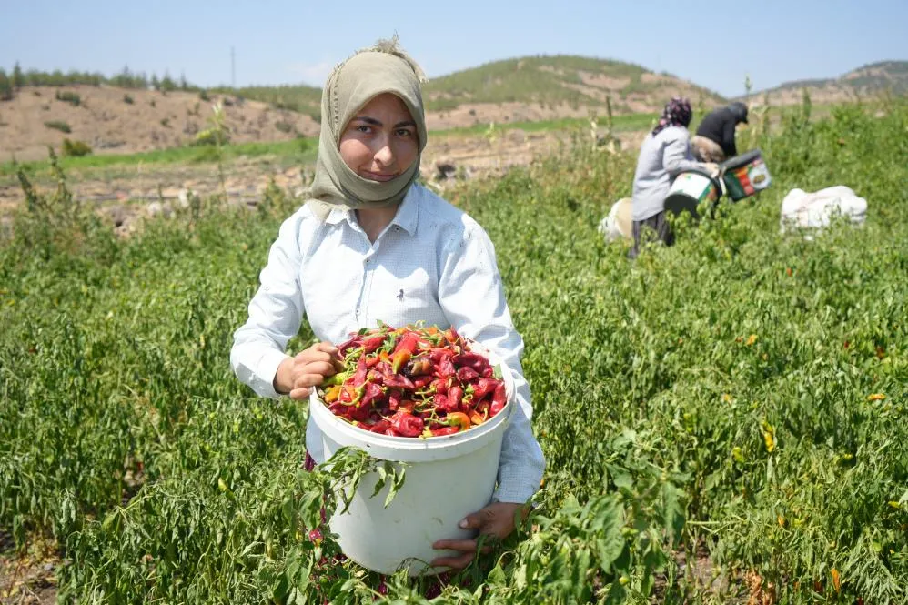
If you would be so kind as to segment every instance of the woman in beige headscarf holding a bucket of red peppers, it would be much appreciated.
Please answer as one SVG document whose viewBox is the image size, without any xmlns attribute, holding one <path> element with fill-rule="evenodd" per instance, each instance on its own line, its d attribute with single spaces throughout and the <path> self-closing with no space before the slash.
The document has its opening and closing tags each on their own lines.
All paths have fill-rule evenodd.
<svg viewBox="0 0 908 605">
<path fill-rule="evenodd" d="M 305 399 L 338 370 L 332 343 L 378 320 L 454 326 L 495 351 L 513 370 L 520 405 L 504 436 L 492 502 L 459 526 L 503 539 L 544 467 L 530 429 L 523 340 L 486 232 L 415 183 L 426 146 L 421 80 L 396 41 L 360 51 L 328 77 L 312 198 L 280 227 L 247 323 L 235 334 L 231 365 L 259 395 Z M 288 356 L 304 316 L 320 342 Z M 309 454 L 323 462 L 315 423 L 306 433 Z M 440 540 L 434 547 L 460 554 L 433 565 L 462 569 L 477 542 Z"/>
</svg>

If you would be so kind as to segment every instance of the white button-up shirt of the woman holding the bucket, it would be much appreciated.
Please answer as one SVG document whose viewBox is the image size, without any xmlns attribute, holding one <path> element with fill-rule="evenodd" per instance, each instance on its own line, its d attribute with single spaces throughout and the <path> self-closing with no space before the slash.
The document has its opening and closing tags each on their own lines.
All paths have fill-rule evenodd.
<svg viewBox="0 0 908 605">
<path fill-rule="evenodd" d="M 492 350 L 511 370 L 516 397 L 501 446 L 493 499 L 524 502 L 539 489 L 545 466 L 530 428 L 530 386 L 489 236 L 466 213 L 413 185 L 388 227 L 370 242 L 353 211 L 334 209 L 322 222 L 303 206 L 280 227 L 249 318 L 234 335 L 230 363 L 259 395 L 277 398 L 277 366 L 305 316 L 319 340 L 339 344 L 378 321 L 400 327 L 423 321 Z M 315 422 L 306 447 L 323 462 Z"/>
</svg>

